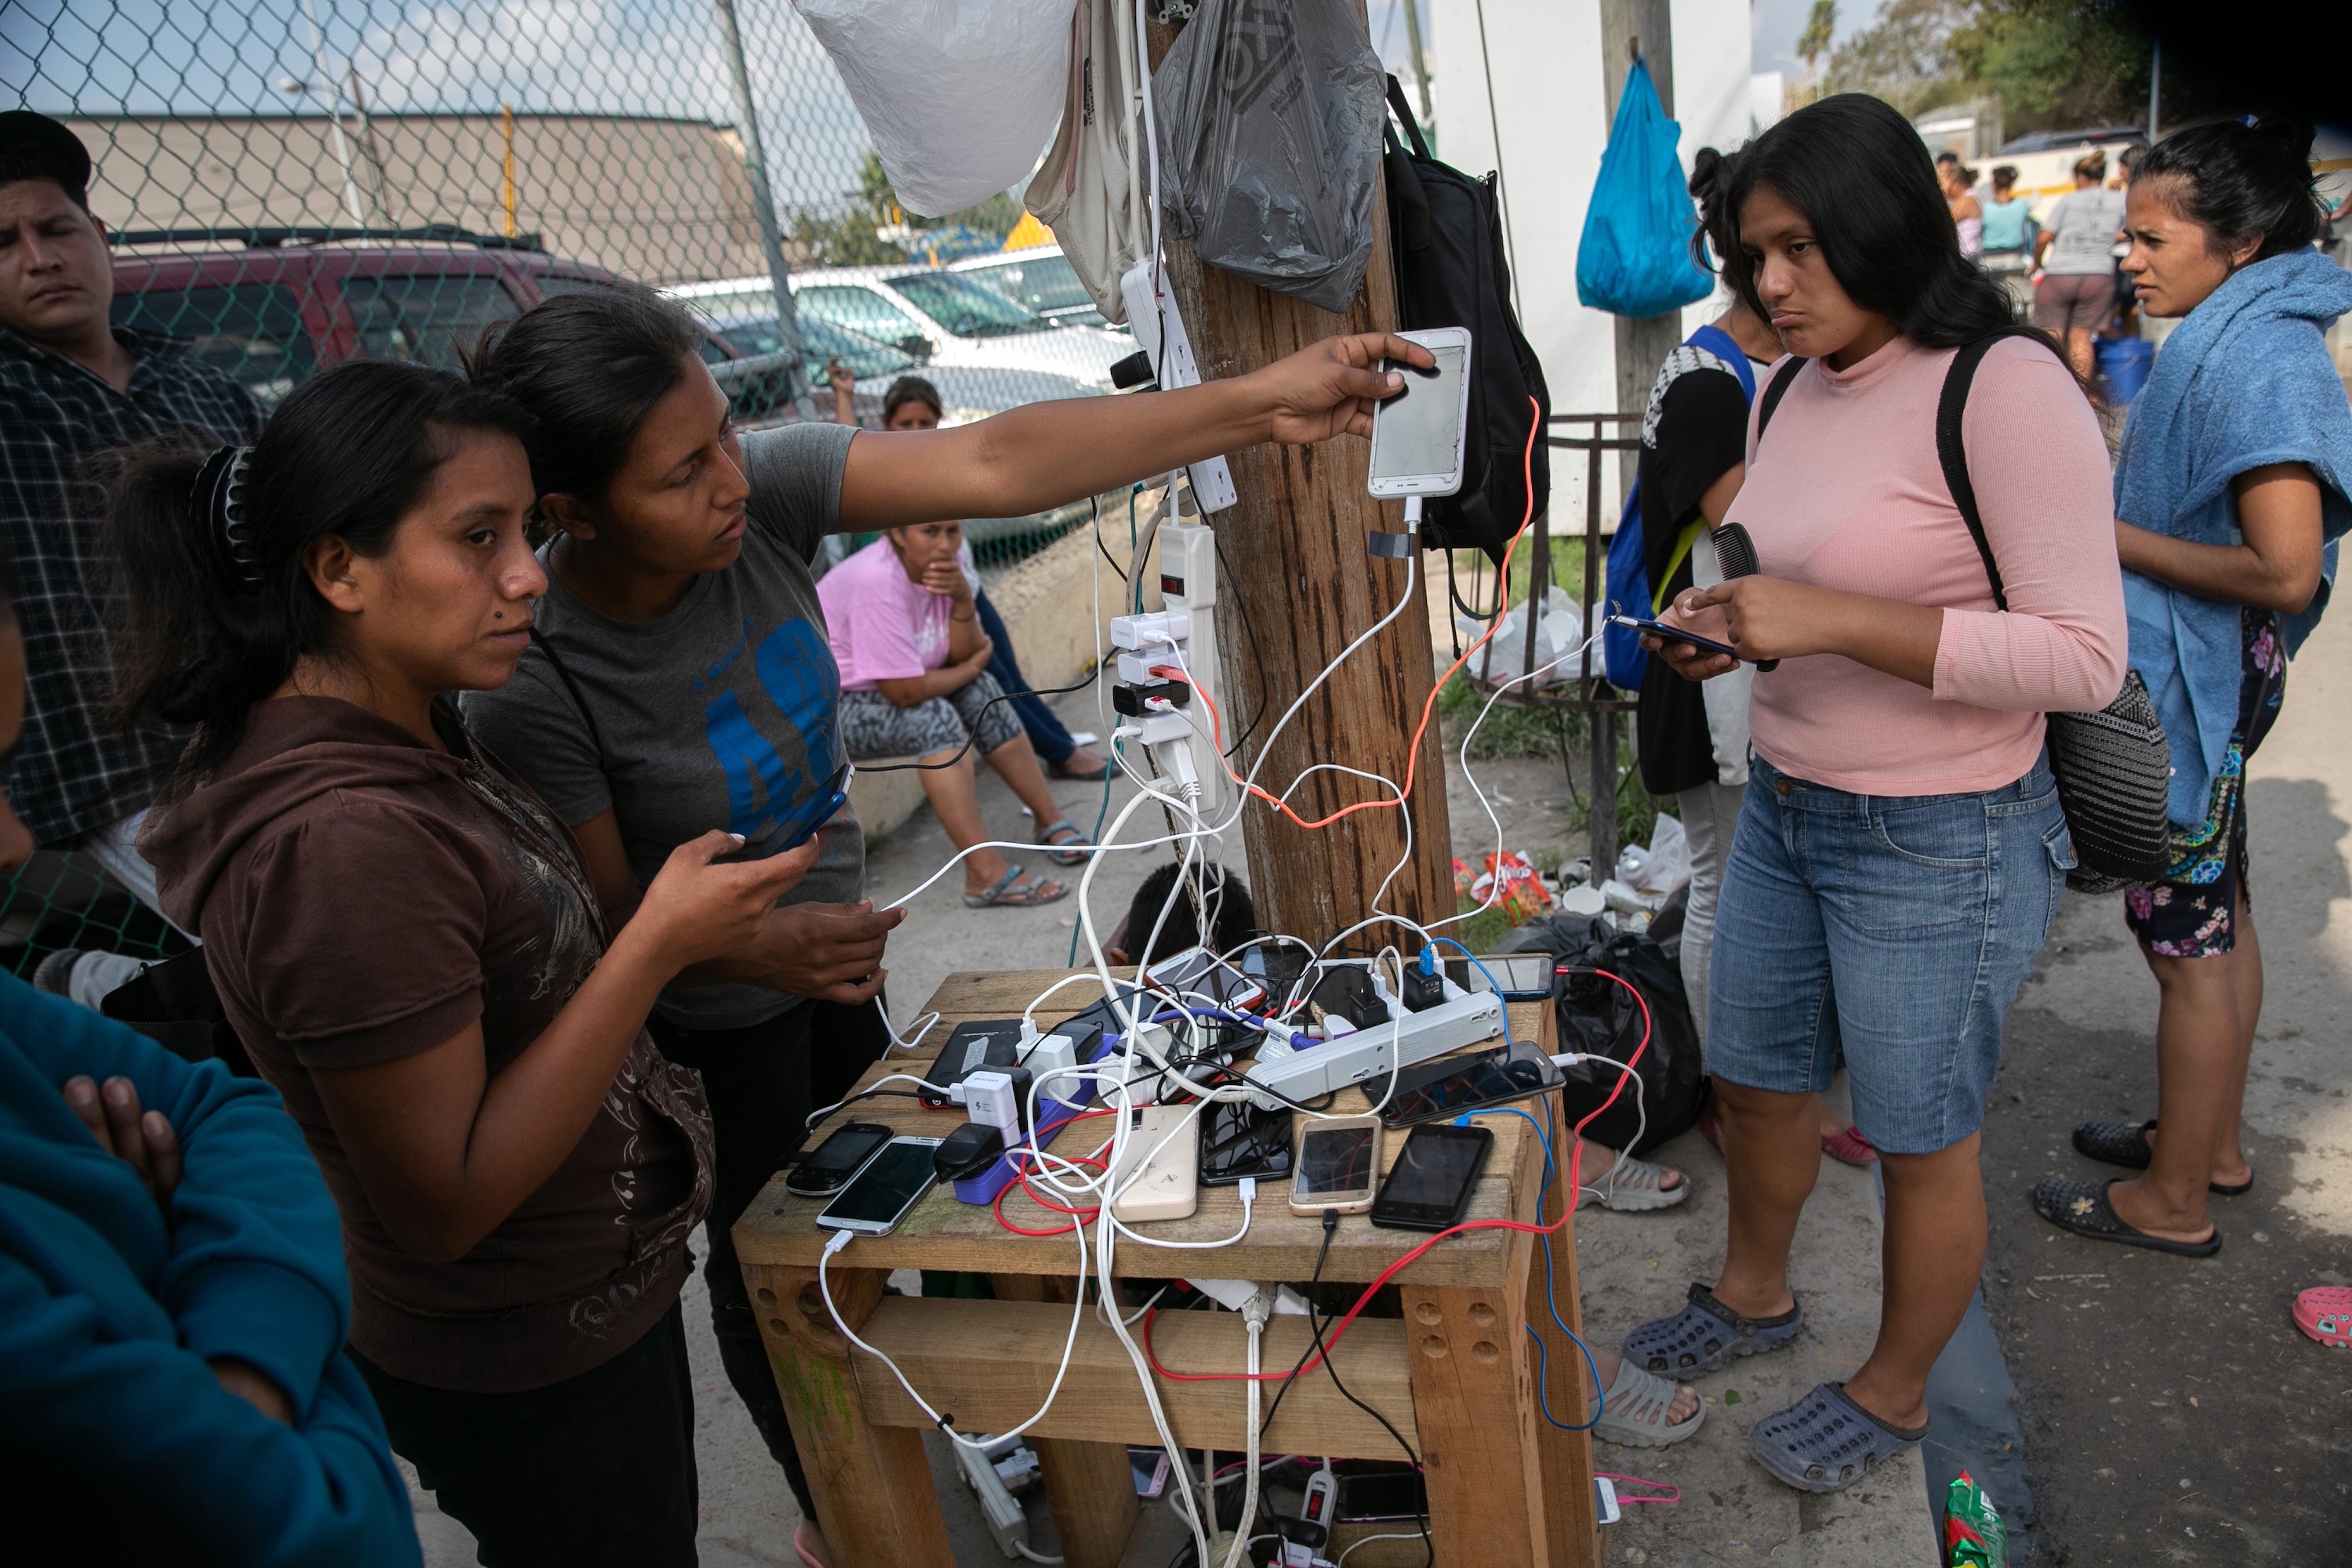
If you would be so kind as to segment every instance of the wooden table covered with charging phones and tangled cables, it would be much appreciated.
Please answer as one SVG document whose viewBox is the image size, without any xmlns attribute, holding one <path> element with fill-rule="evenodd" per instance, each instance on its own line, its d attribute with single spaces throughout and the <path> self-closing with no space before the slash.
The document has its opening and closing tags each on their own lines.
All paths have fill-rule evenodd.
<svg viewBox="0 0 2352 1568">
<path fill-rule="evenodd" d="M 941 1018 L 917 1051 L 891 1051 L 863 1086 L 884 1072 L 920 1070 L 957 1023 L 1018 1018 L 1058 969 L 1021 973 L 957 973 L 931 997 Z M 1058 1023 L 1098 999 L 1096 987 L 1070 985 L 1037 1009 L 1040 1025 Z M 1550 1009 L 1515 1004 L 1515 1034 L 1552 1039 Z M 1359 1091 L 1343 1091 L 1334 1112 L 1371 1110 Z M 1538 1112 L 1538 1103 L 1526 1103 Z M 840 1119 L 884 1121 L 901 1133 L 946 1138 L 960 1110 L 927 1110 L 917 1100 L 861 1100 Z M 1494 1128 L 1494 1152 L 1470 1204 L 1472 1220 L 1555 1220 L 1566 1173 L 1543 1197 L 1543 1145 L 1510 1114 L 1479 1119 Z M 1077 1121 L 1047 1147 L 1084 1154 L 1103 1140 L 1105 1121 Z M 1390 1133 L 1383 1157 L 1395 1157 L 1402 1133 Z M 1566 1150 L 1562 1150 L 1562 1159 Z M 1294 1215 L 1289 1182 L 1258 1187 L 1249 1234 L 1216 1251 L 1160 1251 L 1122 1237 L 1115 1267 L 1122 1279 L 1268 1279 L 1298 1284 L 1315 1269 L 1322 1220 Z M 821 1204 L 797 1199 L 781 1178 L 736 1220 L 736 1253 L 769 1361 L 783 1389 L 816 1514 L 840 1568 L 948 1568 L 946 1526 L 922 1450 L 929 1418 L 906 1396 L 877 1359 L 854 1349 L 835 1328 L 816 1288 L 816 1260 L 828 1232 L 816 1229 Z M 1030 1229 L 1061 1222 L 1014 1190 L 1004 1218 Z M 1235 1187 L 1202 1187 L 1190 1220 L 1138 1225 L 1141 1234 L 1171 1241 L 1230 1237 L 1242 1225 Z M 1091 1234 L 1089 1234 L 1091 1241 Z M 1425 1237 L 1376 1229 L 1350 1215 L 1331 1239 L 1324 1281 L 1369 1284 Z M 891 1269 L 981 1272 L 995 1279 L 997 1300 L 922 1300 L 884 1295 Z M 858 1237 L 826 1267 L 833 1305 L 863 1340 L 906 1371 L 957 1432 L 1004 1432 L 1037 1410 L 1054 1382 L 1070 1333 L 1070 1291 L 1077 1241 L 1016 1237 L 985 1206 L 960 1204 L 934 1190 L 889 1237 Z M 1573 1220 L 1552 1237 L 1552 1276 L 1559 1316 L 1583 1333 L 1576 1305 Z M 1552 1324 L 1543 1302 L 1543 1246 L 1529 1232 L 1472 1229 L 1449 1237 L 1404 1269 L 1402 1316 L 1364 1314 L 1334 1352 L 1348 1389 L 1381 1410 L 1421 1453 L 1430 1497 L 1430 1537 L 1439 1563 L 1479 1568 L 1590 1568 L 1604 1547 L 1595 1523 L 1592 1446 L 1583 1432 L 1543 1420 L 1536 1375 L 1550 1352 L 1548 1396 L 1562 1420 L 1583 1420 L 1583 1356 Z M 1141 1300 L 1141 1298 L 1138 1298 Z M 1529 1335 L 1534 1328 L 1534 1335 Z M 1138 1321 L 1134 1333 L 1141 1335 Z M 1538 1349 L 1536 1340 L 1543 1340 Z M 1265 1328 L 1263 1366 L 1287 1371 L 1308 1349 L 1308 1326 L 1294 1314 Z M 1237 1312 L 1162 1312 L 1152 1349 L 1169 1371 L 1242 1371 L 1247 1331 Z M 1263 1385 L 1270 1406 L 1279 1382 Z M 1240 1458 L 1247 1443 L 1247 1389 L 1237 1380 L 1157 1380 L 1176 1441 Z M 1087 1309 L 1070 1352 L 1070 1371 L 1044 1418 L 1028 1429 L 1044 1472 L 1054 1528 L 1068 1568 L 1115 1568 L 1136 1530 L 1138 1500 L 1127 1443 L 1157 1446 L 1136 1366 Z M 1265 1432 L 1268 1455 L 1402 1460 L 1397 1441 L 1338 1394 L 1327 1373 L 1298 1378 Z M 1164 1507 L 1152 1502 L 1152 1507 Z M 1369 1526 L 1397 1530 L 1409 1526 Z M 1352 1535 L 1338 1537 L 1345 1544 Z M 1404 1542 L 1381 1542 L 1404 1544 Z M 1355 1561 L 1421 1561 L 1406 1556 Z M 1334 1547 L 1338 1549 L 1338 1547 Z"/>
</svg>

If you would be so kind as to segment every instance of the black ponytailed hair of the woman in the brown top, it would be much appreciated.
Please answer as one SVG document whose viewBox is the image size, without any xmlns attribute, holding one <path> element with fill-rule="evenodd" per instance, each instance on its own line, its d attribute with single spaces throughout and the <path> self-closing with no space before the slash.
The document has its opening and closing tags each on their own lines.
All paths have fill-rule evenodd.
<svg viewBox="0 0 2352 1568">
<path fill-rule="evenodd" d="M 106 543 L 115 574 L 115 717 L 193 724 L 174 788 L 219 766 L 254 703 L 306 654 L 334 654 L 334 609 L 303 569 L 318 538 L 367 557 L 452 456 L 452 433 L 517 440 L 529 418 L 449 371 L 393 360 L 339 364 L 294 388 L 235 480 L 235 543 L 198 501 L 207 447 L 191 435 L 113 454 Z M 219 454 L 212 454 L 219 456 Z"/>
</svg>

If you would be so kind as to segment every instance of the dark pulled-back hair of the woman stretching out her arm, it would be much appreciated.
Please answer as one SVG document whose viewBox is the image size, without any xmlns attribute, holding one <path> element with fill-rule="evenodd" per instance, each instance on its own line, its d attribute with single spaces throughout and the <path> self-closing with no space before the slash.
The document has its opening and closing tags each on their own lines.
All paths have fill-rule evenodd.
<svg viewBox="0 0 2352 1568">
<path fill-rule="evenodd" d="M 485 331 L 466 374 L 532 416 L 532 489 L 600 501 L 703 341 L 694 317 L 652 289 L 590 289 Z"/>
</svg>

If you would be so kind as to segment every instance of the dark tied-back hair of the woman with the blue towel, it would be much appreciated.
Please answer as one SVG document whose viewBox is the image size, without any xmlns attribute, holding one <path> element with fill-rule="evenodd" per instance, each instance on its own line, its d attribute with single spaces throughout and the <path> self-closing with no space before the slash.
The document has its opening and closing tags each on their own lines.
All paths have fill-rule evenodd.
<svg viewBox="0 0 2352 1568">
<path fill-rule="evenodd" d="M 2166 205 L 2206 230 L 2218 254 L 2260 240 L 2253 259 L 2267 261 L 2319 240 L 2324 219 L 2310 155 L 2307 120 L 2223 120 L 2147 148 L 2136 179 L 2169 181 Z"/>
</svg>

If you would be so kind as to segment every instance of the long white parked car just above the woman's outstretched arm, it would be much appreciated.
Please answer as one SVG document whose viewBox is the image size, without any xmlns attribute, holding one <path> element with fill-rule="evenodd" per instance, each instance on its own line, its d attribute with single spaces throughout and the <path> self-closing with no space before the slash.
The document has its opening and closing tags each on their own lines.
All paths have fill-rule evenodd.
<svg viewBox="0 0 2352 1568">
<path fill-rule="evenodd" d="M 713 320 L 774 315 L 767 277 L 675 289 Z M 953 268 L 823 268 L 793 275 L 800 317 L 891 343 L 934 367 L 1047 371 L 1110 390 L 1110 367 L 1134 343 L 1098 327 L 1061 327 Z"/>
</svg>

